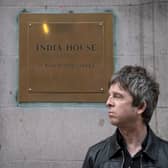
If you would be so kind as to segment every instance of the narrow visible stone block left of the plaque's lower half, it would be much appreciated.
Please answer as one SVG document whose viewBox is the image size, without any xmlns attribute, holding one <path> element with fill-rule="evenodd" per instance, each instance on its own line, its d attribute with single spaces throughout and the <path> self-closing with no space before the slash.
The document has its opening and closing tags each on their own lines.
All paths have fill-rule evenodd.
<svg viewBox="0 0 168 168">
<path fill-rule="evenodd" d="M 0 56 L 0 106 L 9 107 L 17 104 L 18 58 Z"/>
</svg>

